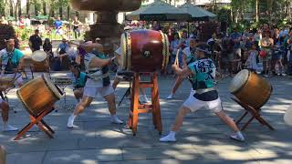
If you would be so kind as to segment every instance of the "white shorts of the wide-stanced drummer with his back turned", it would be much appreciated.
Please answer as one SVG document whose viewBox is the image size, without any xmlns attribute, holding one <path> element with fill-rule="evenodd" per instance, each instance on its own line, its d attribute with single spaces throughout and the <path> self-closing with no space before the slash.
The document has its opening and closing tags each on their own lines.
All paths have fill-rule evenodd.
<svg viewBox="0 0 292 164">
<path fill-rule="evenodd" d="M 203 107 L 209 108 L 210 110 L 214 111 L 214 113 L 218 113 L 223 109 L 220 97 L 213 101 L 202 101 L 193 97 L 193 95 L 190 95 L 190 97 L 188 97 L 188 99 L 184 101 L 183 106 L 186 108 L 190 108 L 192 112 L 195 112 Z"/>
</svg>

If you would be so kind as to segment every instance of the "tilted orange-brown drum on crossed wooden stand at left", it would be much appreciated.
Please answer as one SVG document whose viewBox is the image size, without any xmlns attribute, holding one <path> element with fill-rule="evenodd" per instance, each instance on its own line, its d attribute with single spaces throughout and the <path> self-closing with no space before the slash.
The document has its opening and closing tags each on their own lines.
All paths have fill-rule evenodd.
<svg viewBox="0 0 292 164">
<path fill-rule="evenodd" d="M 37 77 L 17 90 L 17 97 L 30 115 L 38 116 L 50 108 L 63 93 L 47 77 Z"/>
</svg>

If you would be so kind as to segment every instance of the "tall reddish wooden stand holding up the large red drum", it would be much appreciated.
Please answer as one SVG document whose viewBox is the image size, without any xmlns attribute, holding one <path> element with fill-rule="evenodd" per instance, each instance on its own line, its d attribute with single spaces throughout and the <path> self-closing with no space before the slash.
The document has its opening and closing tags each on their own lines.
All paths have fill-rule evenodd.
<svg viewBox="0 0 292 164">
<path fill-rule="evenodd" d="M 139 89 L 140 87 L 151 87 L 151 105 L 139 104 Z M 157 83 L 157 74 L 151 73 L 150 82 L 141 82 L 139 73 L 134 73 L 130 98 L 130 116 L 128 125 L 132 130 L 133 136 L 136 136 L 139 114 L 152 113 L 153 126 L 158 130 L 159 134 L 162 134 L 162 117 L 161 108 L 159 102 L 159 91 Z"/>
</svg>

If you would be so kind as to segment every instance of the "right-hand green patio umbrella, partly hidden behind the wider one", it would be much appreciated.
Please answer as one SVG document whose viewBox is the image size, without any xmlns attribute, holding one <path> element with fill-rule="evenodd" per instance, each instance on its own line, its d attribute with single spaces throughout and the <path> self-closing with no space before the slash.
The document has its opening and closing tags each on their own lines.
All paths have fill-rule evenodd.
<svg viewBox="0 0 292 164">
<path fill-rule="evenodd" d="M 208 12 L 207 10 L 193 5 L 191 3 L 185 3 L 183 5 L 180 5 L 179 8 L 181 8 L 185 13 L 188 13 L 192 15 L 191 20 L 209 20 L 211 18 L 215 18 L 216 15 L 214 15 L 211 12 Z"/>
</svg>

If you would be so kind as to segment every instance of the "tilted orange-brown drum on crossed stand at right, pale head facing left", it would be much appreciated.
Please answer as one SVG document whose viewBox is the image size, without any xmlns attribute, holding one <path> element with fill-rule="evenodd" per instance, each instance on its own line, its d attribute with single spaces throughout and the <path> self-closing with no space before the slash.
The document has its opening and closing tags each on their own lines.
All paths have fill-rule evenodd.
<svg viewBox="0 0 292 164">
<path fill-rule="evenodd" d="M 271 96 L 273 87 L 262 77 L 244 69 L 231 81 L 230 92 L 253 108 L 261 108 Z"/>
</svg>

